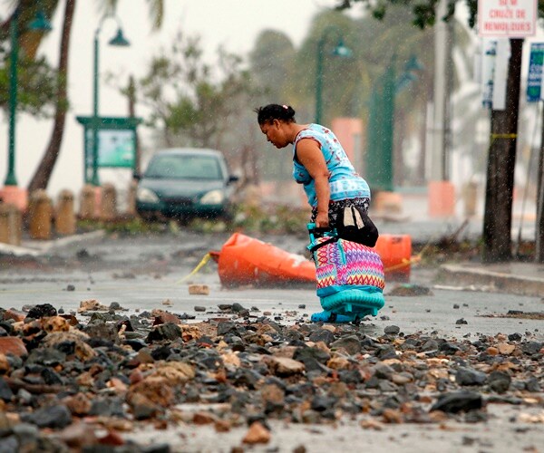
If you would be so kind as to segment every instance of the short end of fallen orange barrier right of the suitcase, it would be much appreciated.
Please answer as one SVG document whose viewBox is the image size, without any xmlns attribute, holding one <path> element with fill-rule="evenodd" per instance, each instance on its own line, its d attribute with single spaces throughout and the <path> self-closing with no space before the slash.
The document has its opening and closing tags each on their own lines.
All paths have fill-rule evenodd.
<svg viewBox="0 0 544 453">
<path fill-rule="evenodd" d="M 384 263 L 385 279 L 410 280 L 412 237 L 409 235 L 380 235 L 374 250 Z"/>
</svg>

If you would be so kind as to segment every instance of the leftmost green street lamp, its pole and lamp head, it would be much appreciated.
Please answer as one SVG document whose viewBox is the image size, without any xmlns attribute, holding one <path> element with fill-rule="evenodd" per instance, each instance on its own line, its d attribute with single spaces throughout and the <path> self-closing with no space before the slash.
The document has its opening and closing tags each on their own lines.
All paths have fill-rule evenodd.
<svg viewBox="0 0 544 453">
<path fill-rule="evenodd" d="M 9 129 L 8 129 L 8 154 L 7 174 L 5 186 L 15 188 L 17 178 L 15 177 L 15 123 L 17 110 L 17 65 L 19 62 L 19 16 L 21 7 L 17 6 L 10 24 L 10 72 L 9 72 Z M 28 25 L 28 29 L 36 32 L 48 32 L 52 29 L 51 24 L 45 17 L 42 10 L 36 13 L 34 20 Z M 17 196 L 15 196 L 17 197 Z M 24 202 L 23 202 L 24 205 Z"/>
</svg>

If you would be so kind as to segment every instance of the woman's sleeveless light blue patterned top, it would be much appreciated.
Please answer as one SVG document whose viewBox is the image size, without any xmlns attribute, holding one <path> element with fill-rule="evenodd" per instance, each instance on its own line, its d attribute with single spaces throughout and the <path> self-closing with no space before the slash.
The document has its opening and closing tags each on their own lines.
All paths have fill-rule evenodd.
<svg viewBox="0 0 544 453">
<path fill-rule="evenodd" d="M 325 157 L 326 168 L 329 170 L 331 201 L 370 198 L 368 184 L 355 171 L 333 131 L 319 124 L 309 124 L 306 129 L 298 132 L 293 143 L 293 178 L 298 184 L 303 185 L 310 206 L 317 205 L 316 183 L 306 168 L 296 160 L 296 144 L 302 139 L 313 139 L 319 144 Z"/>
</svg>

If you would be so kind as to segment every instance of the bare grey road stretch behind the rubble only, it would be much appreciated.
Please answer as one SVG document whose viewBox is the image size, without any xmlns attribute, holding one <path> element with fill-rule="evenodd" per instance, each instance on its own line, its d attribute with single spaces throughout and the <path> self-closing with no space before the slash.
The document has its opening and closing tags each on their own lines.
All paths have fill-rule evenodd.
<svg viewBox="0 0 544 453">
<path fill-rule="evenodd" d="M 223 288 L 212 261 L 188 277 L 201 258 L 210 250 L 220 250 L 227 238 L 183 231 L 177 235 L 104 236 L 58 247 L 44 256 L 4 262 L 0 306 L 21 309 L 48 303 L 68 313 L 76 311 L 81 301 L 96 299 L 104 305 L 117 302 L 130 313 L 160 308 L 203 320 L 221 317 L 219 304 L 239 303 L 254 307 L 256 316 L 267 312 L 284 322 L 304 321 L 310 313 L 320 311 L 311 284 Z M 306 246 L 304 236 L 261 239 L 293 253 L 304 253 Z M 429 288 L 431 295 L 391 295 L 402 283 L 387 281 L 384 308 L 364 322 L 369 334 L 382 333 L 386 325 L 395 324 L 403 333 L 436 331 L 455 337 L 478 333 L 543 335 L 541 320 L 502 317 L 511 310 L 542 312 L 540 297 L 489 293 L 484 286 L 467 291 L 455 282 L 447 282 L 447 286 L 435 283 L 435 269 L 417 265 L 412 267 L 410 284 Z M 189 294 L 189 284 L 209 285 L 209 295 Z M 195 306 L 205 307 L 206 312 L 196 312 Z"/>
</svg>

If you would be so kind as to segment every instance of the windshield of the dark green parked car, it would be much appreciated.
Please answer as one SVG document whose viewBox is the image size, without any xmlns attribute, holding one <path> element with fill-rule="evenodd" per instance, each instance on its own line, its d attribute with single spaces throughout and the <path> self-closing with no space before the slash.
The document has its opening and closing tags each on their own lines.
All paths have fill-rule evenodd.
<svg viewBox="0 0 544 453">
<path fill-rule="evenodd" d="M 155 156 L 145 172 L 147 178 L 222 179 L 219 159 L 214 156 Z"/>
</svg>

